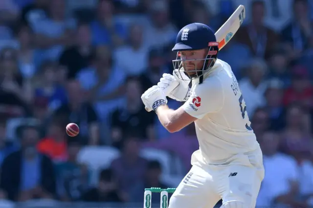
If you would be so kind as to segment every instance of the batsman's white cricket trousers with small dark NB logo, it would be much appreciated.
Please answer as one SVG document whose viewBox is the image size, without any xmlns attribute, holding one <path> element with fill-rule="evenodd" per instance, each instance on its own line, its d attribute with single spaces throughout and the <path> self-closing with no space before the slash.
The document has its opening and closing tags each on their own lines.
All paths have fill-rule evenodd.
<svg viewBox="0 0 313 208">
<path fill-rule="evenodd" d="M 264 178 L 261 149 L 240 154 L 228 165 L 194 164 L 172 195 L 169 208 L 213 208 L 223 199 L 255 208 Z"/>
</svg>

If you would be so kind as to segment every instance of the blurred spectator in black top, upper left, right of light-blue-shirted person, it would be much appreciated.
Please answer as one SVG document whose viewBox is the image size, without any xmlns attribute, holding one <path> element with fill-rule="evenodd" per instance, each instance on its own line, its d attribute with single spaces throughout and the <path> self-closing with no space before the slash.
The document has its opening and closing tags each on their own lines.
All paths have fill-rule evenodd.
<svg viewBox="0 0 313 208">
<path fill-rule="evenodd" d="M 59 63 L 67 67 L 68 78 L 75 78 L 83 68 L 89 67 L 94 59 L 94 47 L 91 45 L 91 31 L 89 24 L 81 23 L 77 26 L 75 44 L 69 46 L 61 55 Z"/>
</svg>

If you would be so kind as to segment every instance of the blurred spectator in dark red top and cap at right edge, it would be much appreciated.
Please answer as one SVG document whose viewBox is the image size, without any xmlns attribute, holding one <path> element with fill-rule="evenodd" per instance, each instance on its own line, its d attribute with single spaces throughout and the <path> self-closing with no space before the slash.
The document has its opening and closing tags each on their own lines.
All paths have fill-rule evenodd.
<svg viewBox="0 0 313 208">
<path fill-rule="evenodd" d="M 284 105 L 297 102 L 310 109 L 313 106 L 313 87 L 309 79 L 308 69 L 303 66 L 294 66 L 291 71 L 291 86 L 285 91 Z"/>
</svg>

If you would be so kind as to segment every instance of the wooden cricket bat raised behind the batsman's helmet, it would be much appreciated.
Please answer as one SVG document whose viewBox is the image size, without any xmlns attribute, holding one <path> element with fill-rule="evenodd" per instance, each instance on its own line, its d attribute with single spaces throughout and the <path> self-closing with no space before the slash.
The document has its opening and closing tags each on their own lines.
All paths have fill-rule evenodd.
<svg viewBox="0 0 313 208">
<path fill-rule="evenodd" d="M 219 50 L 221 50 L 227 42 L 235 35 L 239 27 L 246 19 L 246 9 L 244 5 L 239 5 L 234 13 L 215 33 L 216 41 L 219 42 Z M 146 107 L 145 109 L 150 112 Z"/>
</svg>

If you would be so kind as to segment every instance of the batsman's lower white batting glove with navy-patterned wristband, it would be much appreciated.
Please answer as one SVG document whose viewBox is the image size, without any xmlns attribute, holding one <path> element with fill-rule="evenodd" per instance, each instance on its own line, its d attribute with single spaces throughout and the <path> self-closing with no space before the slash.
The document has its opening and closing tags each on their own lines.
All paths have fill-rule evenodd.
<svg viewBox="0 0 313 208">
<path fill-rule="evenodd" d="M 162 104 L 167 104 L 167 99 L 162 89 L 154 85 L 147 89 L 142 95 L 141 100 L 145 105 L 145 109 L 150 112 Z"/>
</svg>

